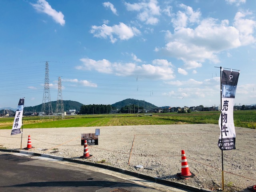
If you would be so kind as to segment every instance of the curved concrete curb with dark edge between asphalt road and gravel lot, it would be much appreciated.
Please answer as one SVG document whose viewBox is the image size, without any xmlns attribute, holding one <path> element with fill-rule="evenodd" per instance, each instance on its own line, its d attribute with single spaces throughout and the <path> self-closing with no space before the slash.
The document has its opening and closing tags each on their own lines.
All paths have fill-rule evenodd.
<svg viewBox="0 0 256 192">
<path fill-rule="evenodd" d="M 125 170 L 125 169 L 122 169 L 122 168 L 117 168 L 117 167 L 113 167 L 113 166 L 109 166 L 109 165 L 105 165 L 105 164 L 99 164 L 99 163 L 88 162 L 88 161 L 80 161 L 80 160 L 75 160 L 75 159 L 70 159 L 70 158 L 65 158 L 65 157 L 60 157 L 60 156 L 54 156 L 54 155 L 49 155 L 49 154 L 40 154 L 40 153 L 34 153 L 34 152 L 22 151 L 22 150 L 0 149 L 0 151 L 29 154 L 29 155 L 34 155 L 34 156 L 41 156 L 41 157 L 46 157 L 46 158 L 52 158 L 52 159 L 57 159 L 57 160 L 73 162 L 73 163 L 77 163 L 77 164 L 95 166 L 95 167 L 98 167 L 98 168 L 104 168 L 104 169 L 107 169 L 107 170 L 111 170 L 111 171 L 119 172 L 119 173 L 122 173 L 122 174 L 134 176 L 136 178 L 149 180 L 149 181 L 152 181 L 152 182 L 156 182 L 158 184 L 163 184 L 163 185 L 170 186 L 170 187 L 180 188 L 180 189 L 183 189 L 183 190 L 184 189 L 185 190 L 191 190 L 191 191 L 194 191 L 194 192 L 212 192 L 211 190 L 198 188 L 198 187 L 194 187 L 194 186 L 190 186 L 190 185 L 186 185 L 186 184 L 182 184 L 182 183 L 178 183 L 178 182 L 174 182 L 174 181 L 163 180 L 163 179 L 160 179 L 160 178 L 151 177 L 151 176 L 148 176 L 148 175 L 132 172 L 132 171 L 129 171 L 129 170 Z"/>
</svg>

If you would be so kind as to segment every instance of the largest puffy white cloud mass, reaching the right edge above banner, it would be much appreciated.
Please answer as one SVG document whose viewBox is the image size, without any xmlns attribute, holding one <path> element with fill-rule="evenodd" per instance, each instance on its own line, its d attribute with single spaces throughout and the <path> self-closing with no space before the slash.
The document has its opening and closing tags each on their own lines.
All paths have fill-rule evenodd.
<svg viewBox="0 0 256 192">
<path fill-rule="evenodd" d="M 230 26 L 228 20 L 200 20 L 200 11 L 184 4 L 180 8 L 172 18 L 174 32 L 166 31 L 166 45 L 155 51 L 182 60 L 184 69 L 201 67 L 206 60 L 218 63 L 218 53 L 256 42 L 256 21 L 249 11 L 237 12 Z"/>
</svg>

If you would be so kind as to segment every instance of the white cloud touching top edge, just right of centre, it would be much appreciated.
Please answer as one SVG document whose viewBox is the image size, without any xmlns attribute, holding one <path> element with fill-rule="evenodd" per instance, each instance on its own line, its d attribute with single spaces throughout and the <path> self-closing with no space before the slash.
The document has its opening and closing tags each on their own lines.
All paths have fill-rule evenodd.
<svg viewBox="0 0 256 192">
<path fill-rule="evenodd" d="M 155 25 L 159 22 L 157 16 L 160 15 L 160 7 L 157 0 L 143 1 L 139 3 L 124 3 L 128 11 L 137 11 L 138 20 L 146 24 Z"/>
</svg>

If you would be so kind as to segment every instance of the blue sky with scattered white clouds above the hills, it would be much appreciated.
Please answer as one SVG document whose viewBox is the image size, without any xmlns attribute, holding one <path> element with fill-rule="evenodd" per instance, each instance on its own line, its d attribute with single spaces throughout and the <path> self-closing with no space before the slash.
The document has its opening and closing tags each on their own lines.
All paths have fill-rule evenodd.
<svg viewBox="0 0 256 192">
<path fill-rule="evenodd" d="M 219 106 L 220 66 L 256 103 L 255 0 L 1 0 L 0 108 L 51 101 Z M 216 68 L 218 67 L 218 68 Z"/>
</svg>

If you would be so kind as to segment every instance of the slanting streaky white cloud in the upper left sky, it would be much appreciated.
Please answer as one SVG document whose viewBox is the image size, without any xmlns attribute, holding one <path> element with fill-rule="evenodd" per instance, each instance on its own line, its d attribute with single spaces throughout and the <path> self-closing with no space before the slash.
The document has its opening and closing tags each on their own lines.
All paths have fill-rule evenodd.
<svg viewBox="0 0 256 192">
<path fill-rule="evenodd" d="M 37 4 L 31 4 L 38 12 L 51 16 L 57 23 L 64 26 L 65 20 L 62 12 L 54 10 L 46 0 L 38 0 Z"/>
</svg>

